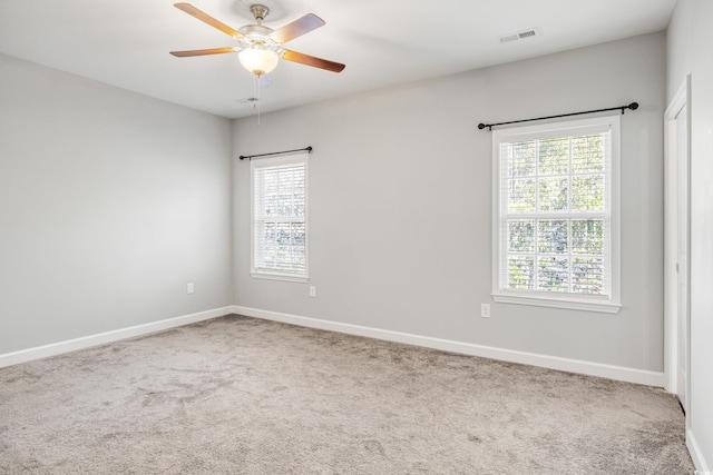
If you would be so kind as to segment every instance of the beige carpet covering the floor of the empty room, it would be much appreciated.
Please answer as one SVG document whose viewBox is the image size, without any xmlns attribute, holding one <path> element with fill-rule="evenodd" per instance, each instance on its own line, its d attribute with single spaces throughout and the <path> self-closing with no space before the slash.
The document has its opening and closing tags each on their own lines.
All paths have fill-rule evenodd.
<svg viewBox="0 0 713 475">
<path fill-rule="evenodd" d="M 0 369 L 2 474 L 692 474 L 663 389 L 228 316 Z"/>
</svg>

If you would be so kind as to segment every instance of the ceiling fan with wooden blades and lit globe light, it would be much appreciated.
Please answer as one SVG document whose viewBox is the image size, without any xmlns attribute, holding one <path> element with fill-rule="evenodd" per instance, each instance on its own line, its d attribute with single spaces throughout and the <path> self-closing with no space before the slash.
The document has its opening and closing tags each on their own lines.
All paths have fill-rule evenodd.
<svg viewBox="0 0 713 475">
<path fill-rule="evenodd" d="M 234 30 L 191 3 L 175 3 L 174 7 L 235 38 L 238 42 L 236 47 L 170 51 L 173 56 L 178 58 L 237 52 L 241 65 L 258 78 L 275 69 L 280 58 L 334 72 L 341 72 L 345 67 L 340 62 L 283 48 L 283 44 L 287 41 L 323 26 L 324 20 L 316 14 L 307 13 L 291 23 L 273 30 L 262 24 L 267 13 L 270 13 L 270 9 L 262 4 L 253 4 L 250 10 L 255 17 L 256 24 L 246 24 L 240 30 Z"/>
</svg>

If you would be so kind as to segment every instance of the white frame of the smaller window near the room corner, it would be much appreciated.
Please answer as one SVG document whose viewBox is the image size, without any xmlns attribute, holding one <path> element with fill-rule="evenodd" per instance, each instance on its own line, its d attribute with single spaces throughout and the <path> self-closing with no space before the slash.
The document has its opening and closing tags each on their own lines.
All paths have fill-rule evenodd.
<svg viewBox="0 0 713 475">
<path fill-rule="evenodd" d="M 256 266 L 256 253 L 257 253 L 257 221 L 261 217 L 256 216 L 256 170 L 265 169 L 265 168 L 282 168 L 290 167 L 294 165 L 304 165 L 304 271 L 303 273 L 285 273 L 280 271 L 274 268 L 265 268 Z M 296 281 L 296 283 L 306 283 L 309 281 L 309 200 L 307 200 L 307 190 L 309 190 L 309 161 L 307 154 L 295 154 L 290 156 L 282 157 L 272 157 L 272 158 L 262 158 L 258 160 L 251 160 L 251 276 L 254 278 L 261 279 L 273 279 L 273 280 L 286 280 L 286 281 Z M 296 222 L 302 222 L 302 220 L 296 219 Z"/>
</svg>

